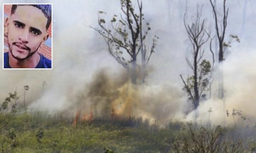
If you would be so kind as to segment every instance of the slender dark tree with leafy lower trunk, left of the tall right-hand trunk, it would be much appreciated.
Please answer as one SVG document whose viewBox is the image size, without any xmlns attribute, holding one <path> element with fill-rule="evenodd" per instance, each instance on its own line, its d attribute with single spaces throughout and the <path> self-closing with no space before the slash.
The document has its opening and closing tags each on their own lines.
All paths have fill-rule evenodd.
<svg viewBox="0 0 256 153">
<path fill-rule="evenodd" d="M 211 64 L 202 58 L 205 50 L 202 46 L 209 40 L 209 33 L 205 30 L 205 19 L 201 20 L 202 7 L 197 7 L 195 19 L 191 25 L 186 23 L 184 15 L 184 26 L 187 36 L 191 42 L 192 61 L 186 57 L 188 66 L 192 69 L 193 75 L 188 76 L 186 81 L 180 75 L 184 83 L 184 90 L 190 96 L 192 106 L 196 109 L 199 106 L 200 98 L 209 85 L 209 72 Z"/>
</svg>

